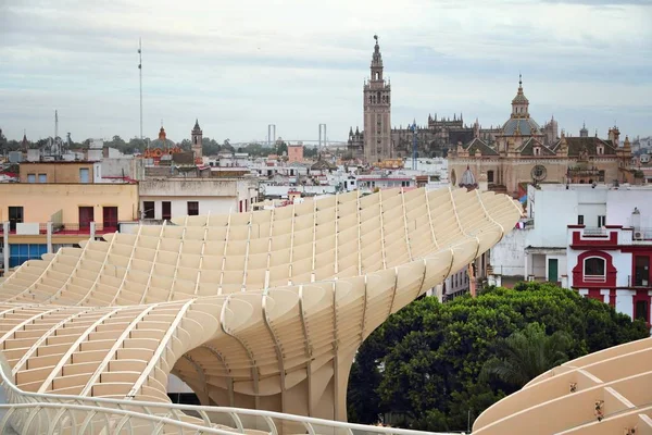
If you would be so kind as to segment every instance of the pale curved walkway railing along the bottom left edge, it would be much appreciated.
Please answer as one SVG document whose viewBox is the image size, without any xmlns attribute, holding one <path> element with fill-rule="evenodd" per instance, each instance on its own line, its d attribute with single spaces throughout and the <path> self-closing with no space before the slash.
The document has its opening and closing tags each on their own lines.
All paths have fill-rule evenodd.
<svg viewBox="0 0 652 435">
<path fill-rule="evenodd" d="M 23 391 L 0 355 L 0 384 L 8 403 L 0 433 L 20 434 L 435 434 L 346 423 L 253 409 L 203 407 Z M 440 434 L 453 435 L 453 434 Z"/>
</svg>

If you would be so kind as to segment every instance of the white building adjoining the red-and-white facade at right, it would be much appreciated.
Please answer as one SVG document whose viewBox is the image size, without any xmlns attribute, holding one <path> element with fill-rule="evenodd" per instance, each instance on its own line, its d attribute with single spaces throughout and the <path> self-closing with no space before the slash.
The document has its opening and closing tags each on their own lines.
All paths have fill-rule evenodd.
<svg viewBox="0 0 652 435">
<path fill-rule="evenodd" d="M 604 225 L 652 227 L 652 188 L 648 186 L 540 185 L 528 187 L 527 220 L 490 252 L 493 275 L 550 281 L 568 286 L 568 225 L 599 232 Z M 640 212 L 632 223 L 632 212 Z"/>
</svg>

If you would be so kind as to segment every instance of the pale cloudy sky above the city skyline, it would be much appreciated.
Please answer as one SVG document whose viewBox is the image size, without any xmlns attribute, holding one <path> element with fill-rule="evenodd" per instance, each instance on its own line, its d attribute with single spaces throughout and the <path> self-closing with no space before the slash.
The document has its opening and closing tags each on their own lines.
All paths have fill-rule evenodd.
<svg viewBox="0 0 652 435">
<path fill-rule="evenodd" d="M 9 138 L 139 135 L 346 140 L 378 34 L 392 124 L 503 123 L 523 73 L 530 113 L 578 134 L 652 134 L 652 0 L 0 0 Z"/>
</svg>

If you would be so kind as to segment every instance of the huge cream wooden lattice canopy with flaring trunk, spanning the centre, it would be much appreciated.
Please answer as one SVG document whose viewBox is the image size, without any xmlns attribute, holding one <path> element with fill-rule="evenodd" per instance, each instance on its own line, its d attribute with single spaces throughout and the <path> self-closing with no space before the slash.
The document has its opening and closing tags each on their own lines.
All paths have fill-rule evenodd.
<svg viewBox="0 0 652 435">
<path fill-rule="evenodd" d="M 387 316 L 487 251 L 521 207 L 443 189 L 188 216 L 28 261 L 0 284 L 25 391 L 346 419 L 349 370 Z"/>
</svg>

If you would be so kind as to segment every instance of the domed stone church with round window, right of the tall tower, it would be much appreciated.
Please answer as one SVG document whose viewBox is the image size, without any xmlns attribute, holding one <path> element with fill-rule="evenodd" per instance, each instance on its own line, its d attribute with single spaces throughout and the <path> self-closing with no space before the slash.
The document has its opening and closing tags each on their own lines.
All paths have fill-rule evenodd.
<svg viewBox="0 0 652 435">
<path fill-rule="evenodd" d="M 556 124 L 553 125 L 556 128 Z M 475 179 L 488 188 L 522 197 L 529 183 L 617 183 L 626 182 L 631 160 L 629 139 L 619 140 L 617 127 L 610 128 L 609 138 L 589 137 L 586 128 L 580 136 L 560 138 L 550 135 L 529 115 L 529 101 L 523 83 L 512 100 L 512 114 L 488 142 L 479 135 L 459 144 L 449 154 L 449 179 L 462 183 L 468 170 Z M 552 137 L 551 137 L 552 136 Z M 554 140 L 551 140 L 553 139 Z"/>
</svg>

